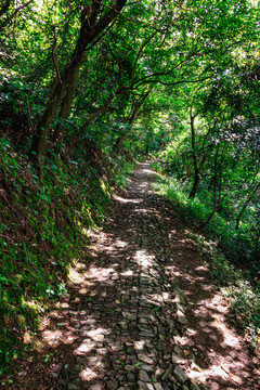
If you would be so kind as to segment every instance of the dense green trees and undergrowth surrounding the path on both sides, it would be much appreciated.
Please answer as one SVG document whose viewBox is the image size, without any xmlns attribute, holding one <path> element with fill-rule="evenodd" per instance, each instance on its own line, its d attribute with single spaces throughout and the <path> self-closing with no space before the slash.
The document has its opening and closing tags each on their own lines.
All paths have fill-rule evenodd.
<svg viewBox="0 0 260 390">
<path fill-rule="evenodd" d="M 1 2 L 3 340 L 14 317 L 26 327 L 41 310 L 37 295 L 43 304 L 62 294 L 68 253 L 103 216 L 122 155 L 156 155 L 174 202 L 257 288 L 259 10 L 252 0 Z M 0 348 L 3 360 L 10 351 Z"/>
</svg>

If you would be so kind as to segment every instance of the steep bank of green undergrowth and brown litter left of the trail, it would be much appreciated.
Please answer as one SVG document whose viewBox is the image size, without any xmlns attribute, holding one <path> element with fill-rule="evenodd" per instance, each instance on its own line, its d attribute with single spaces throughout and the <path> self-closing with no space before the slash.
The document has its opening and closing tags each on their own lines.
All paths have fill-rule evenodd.
<svg viewBox="0 0 260 390">
<path fill-rule="evenodd" d="M 66 294 L 69 264 L 89 244 L 88 230 L 103 222 L 113 191 L 132 168 L 122 157 L 88 151 L 78 160 L 53 157 L 40 180 L 29 159 L 1 139 L 0 374 L 31 348 L 40 316 Z"/>
</svg>

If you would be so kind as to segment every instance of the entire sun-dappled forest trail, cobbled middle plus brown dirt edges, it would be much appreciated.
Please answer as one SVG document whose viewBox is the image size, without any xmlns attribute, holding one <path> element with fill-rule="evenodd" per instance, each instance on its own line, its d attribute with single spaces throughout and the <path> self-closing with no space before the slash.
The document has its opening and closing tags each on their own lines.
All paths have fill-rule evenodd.
<svg viewBox="0 0 260 390">
<path fill-rule="evenodd" d="M 41 327 L 44 346 L 22 364 L 18 389 L 257 389 L 245 342 L 148 164 L 116 197 L 70 290 Z"/>
</svg>

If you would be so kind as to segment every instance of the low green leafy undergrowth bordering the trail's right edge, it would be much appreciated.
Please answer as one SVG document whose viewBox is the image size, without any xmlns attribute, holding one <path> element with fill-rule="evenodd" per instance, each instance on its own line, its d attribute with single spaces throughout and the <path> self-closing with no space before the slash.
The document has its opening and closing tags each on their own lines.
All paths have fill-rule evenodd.
<svg viewBox="0 0 260 390">
<path fill-rule="evenodd" d="M 191 200 L 181 191 L 176 179 L 158 174 L 154 183 L 155 191 L 174 205 L 177 212 L 196 227 L 209 213 L 198 199 Z M 196 229 L 194 229 L 196 231 Z M 192 233 L 203 251 L 210 255 L 209 263 L 213 282 L 227 296 L 231 303 L 230 321 L 240 329 L 249 342 L 250 349 L 260 352 L 260 280 L 259 260 L 239 263 L 235 257 L 236 242 L 239 237 L 231 231 L 229 224 L 218 214 L 205 232 Z M 233 240 L 232 240 L 233 239 Z M 229 245 L 224 245 L 229 243 Z M 226 251 L 225 251 L 226 249 Z M 231 256 L 231 253 L 233 256 Z"/>
</svg>

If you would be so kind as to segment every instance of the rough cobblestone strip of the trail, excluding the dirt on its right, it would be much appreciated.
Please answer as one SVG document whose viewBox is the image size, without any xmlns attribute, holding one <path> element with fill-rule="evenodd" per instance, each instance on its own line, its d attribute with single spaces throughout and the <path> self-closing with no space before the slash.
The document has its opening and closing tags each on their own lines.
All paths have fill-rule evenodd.
<svg viewBox="0 0 260 390">
<path fill-rule="evenodd" d="M 187 322 L 186 301 L 171 271 L 152 176 L 147 164 L 140 165 L 106 233 L 92 233 L 96 265 L 88 280 L 93 290 L 88 304 L 73 313 L 80 322 L 80 342 L 75 361 L 57 374 L 60 388 L 206 389 L 182 369 L 185 360 L 176 338 Z"/>
</svg>

